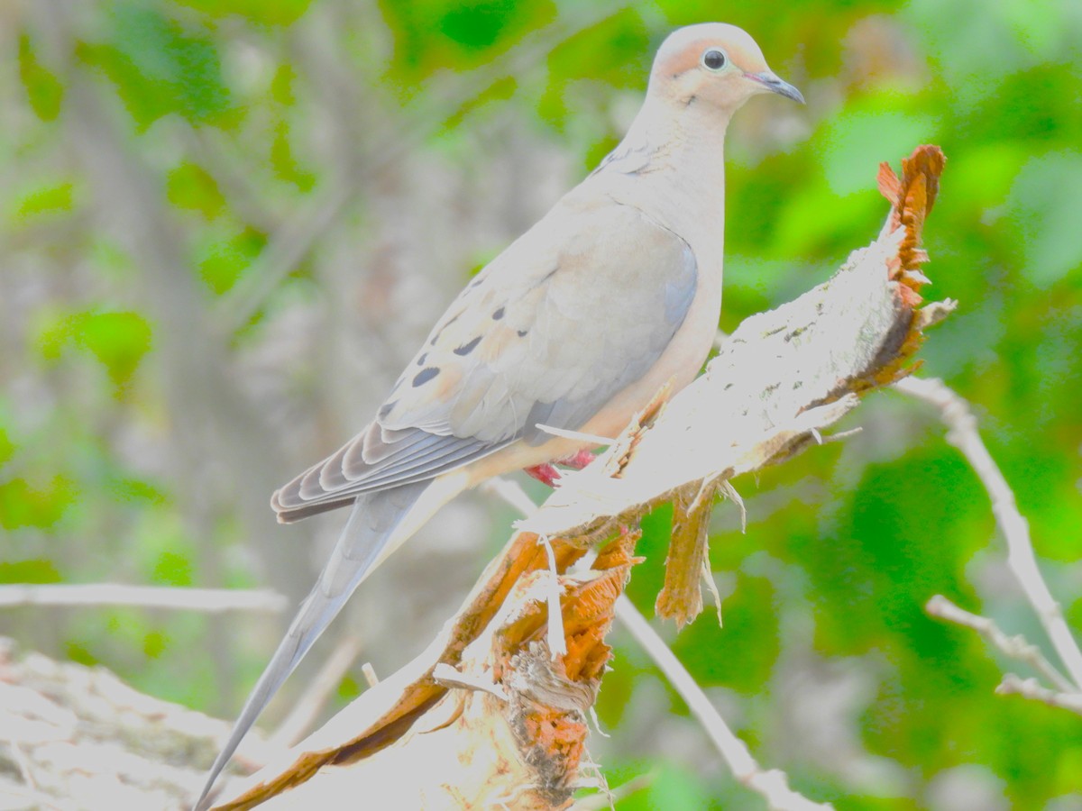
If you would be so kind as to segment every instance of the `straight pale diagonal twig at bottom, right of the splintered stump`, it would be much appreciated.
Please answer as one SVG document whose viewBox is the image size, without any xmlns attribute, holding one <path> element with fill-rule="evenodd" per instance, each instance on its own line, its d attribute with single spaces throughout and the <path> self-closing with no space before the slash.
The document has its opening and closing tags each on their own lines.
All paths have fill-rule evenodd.
<svg viewBox="0 0 1082 811">
<path fill-rule="evenodd" d="M 638 610 L 625 595 L 621 595 L 617 599 L 616 614 L 635 637 L 635 640 L 649 653 L 650 659 L 661 668 L 665 678 L 669 679 L 669 683 L 679 693 L 737 780 L 762 795 L 771 809 L 780 811 L 819 809 L 822 811 L 822 809 L 833 808 L 829 803 L 813 802 L 807 797 L 791 789 L 784 772 L 778 769 L 764 771 L 755 762 L 744 742 L 733 733 L 702 688 L 696 683 L 676 655 L 669 649 L 669 646 L 638 613 Z"/>
</svg>

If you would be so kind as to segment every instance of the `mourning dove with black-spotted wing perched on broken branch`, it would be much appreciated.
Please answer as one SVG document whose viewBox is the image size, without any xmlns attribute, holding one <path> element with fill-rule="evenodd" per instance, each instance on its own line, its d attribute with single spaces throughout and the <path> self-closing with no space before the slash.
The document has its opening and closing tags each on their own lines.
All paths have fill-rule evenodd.
<svg viewBox="0 0 1082 811">
<path fill-rule="evenodd" d="M 439 507 L 595 444 L 567 430 L 615 436 L 695 377 L 721 310 L 725 130 L 766 92 L 804 101 L 740 28 L 670 35 L 620 145 L 466 285 L 375 418 L 274 494 L 283 522 L 352 505 L 349 519 L 197 808 L 354 589 Z"/>
</svg>

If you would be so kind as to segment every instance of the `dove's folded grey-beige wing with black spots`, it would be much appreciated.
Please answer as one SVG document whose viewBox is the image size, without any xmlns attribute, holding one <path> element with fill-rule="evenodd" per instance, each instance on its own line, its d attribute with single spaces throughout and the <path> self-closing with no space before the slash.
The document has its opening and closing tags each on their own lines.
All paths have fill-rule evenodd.
<svg viewBox="0 0 1082 811">
<path fill-rule="evenodd" d="M 568 196 L 454 300 L 377 418 L 275 493 L 279 520 L 540 444 L 539 424 L 581 427 L 654 365 L 696 281 L 681 237 L 611 198 Z"/>
</svg>

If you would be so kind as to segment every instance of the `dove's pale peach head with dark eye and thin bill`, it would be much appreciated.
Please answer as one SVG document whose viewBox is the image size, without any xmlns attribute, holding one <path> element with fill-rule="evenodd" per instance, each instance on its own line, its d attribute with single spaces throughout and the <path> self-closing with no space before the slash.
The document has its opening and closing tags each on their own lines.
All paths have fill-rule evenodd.
<svg viewBox="0 0 1082 811">
<path fill-rule="evenodd" d="M 766 65 L 755 40 L 725 23 L 679 28 L 658 50 L 650 72 L 651 95 L 684 106 L 709 104 L 731 114 L 757 93 L 804 96 Z"/>
</svg>

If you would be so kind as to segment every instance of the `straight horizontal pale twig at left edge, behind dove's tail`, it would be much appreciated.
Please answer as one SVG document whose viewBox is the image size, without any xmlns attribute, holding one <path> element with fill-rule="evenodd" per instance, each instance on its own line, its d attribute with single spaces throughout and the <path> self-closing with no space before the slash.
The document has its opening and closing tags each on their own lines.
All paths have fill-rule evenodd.
<svg viewBox="0 0 1082 811">
<path fill-rule="evenodd" d="M 18 606 L 136 606 L 217 614 L 223 611 L 286 610 L 286 598 L 269 589 L 179 588 L 123 583 L 0 586 L 0 608 Z"/>
</svg>

